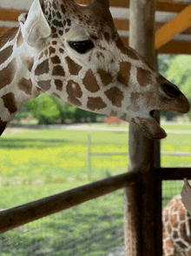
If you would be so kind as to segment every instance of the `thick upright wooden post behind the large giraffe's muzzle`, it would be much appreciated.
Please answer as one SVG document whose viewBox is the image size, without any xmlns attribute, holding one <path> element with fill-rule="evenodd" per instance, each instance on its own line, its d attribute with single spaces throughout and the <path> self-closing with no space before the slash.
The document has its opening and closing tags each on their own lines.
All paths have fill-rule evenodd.
<svg viewBox="0 0 191 256">
<path fill-rule="evenodd" d="M 130 0 L 129 46 L 155 66 L 155 0 Z M 124 191 L 126 256 L 162 255 L 161 181 L 154 169 L 159 154 L 155 141 L 130 124 L 128 170 L 139 166 L 143 181 Z"/>
</svg>

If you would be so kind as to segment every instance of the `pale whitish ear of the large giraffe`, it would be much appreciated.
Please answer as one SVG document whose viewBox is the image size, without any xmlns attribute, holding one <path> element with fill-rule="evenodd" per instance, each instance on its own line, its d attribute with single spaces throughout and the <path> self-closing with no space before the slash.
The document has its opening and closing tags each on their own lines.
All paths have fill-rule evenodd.
<svg viewBox="0 0 191 256">
<path fill-rule="evenodd" d="M 31 7 L 24 24 L 21 24 L 23 38 L 30 46 L 39 49 L 45 42 L 45 39 L 51 35 L 51 29 L 46 18 L 43 15 L 41 0 L 35 0 Z"/>
</svg>

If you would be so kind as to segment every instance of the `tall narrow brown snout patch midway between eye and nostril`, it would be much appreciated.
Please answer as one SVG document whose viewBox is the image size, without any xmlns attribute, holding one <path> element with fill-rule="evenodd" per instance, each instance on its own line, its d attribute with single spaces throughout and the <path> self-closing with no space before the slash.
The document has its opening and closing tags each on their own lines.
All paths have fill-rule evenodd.
<svg viewBox="0 0 191 256">
<path fill-rule="evenodd" d="M 120 71 L 118 72 L 117 75 L 117 80 L 124 84 L 125 86 L 128 86 L 128 81 L 130 78 L 130 67 L 131 64 L 128 62 L 122 62 L 120 64 Z"/>
</svg>

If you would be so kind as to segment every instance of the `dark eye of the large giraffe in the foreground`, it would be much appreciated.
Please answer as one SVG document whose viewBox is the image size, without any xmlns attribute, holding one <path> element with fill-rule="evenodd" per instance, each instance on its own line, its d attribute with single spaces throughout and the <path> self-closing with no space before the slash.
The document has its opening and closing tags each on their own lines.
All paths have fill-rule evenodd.
<svg viewBox="0 0 191 256">
<path fill-rule="evenodd" d="M 69 41 L 69 46 L 78 53 L 84 54 L 94 48 L 91 40 L 85 41 Z"/>
</svg>

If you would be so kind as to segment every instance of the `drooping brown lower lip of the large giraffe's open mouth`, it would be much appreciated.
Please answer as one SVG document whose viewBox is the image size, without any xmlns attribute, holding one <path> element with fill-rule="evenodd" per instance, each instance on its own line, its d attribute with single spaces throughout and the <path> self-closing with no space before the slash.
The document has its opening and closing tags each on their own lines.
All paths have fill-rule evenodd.
<svg viewBox="0 0 191 256">
<path fill-rule="evenodd" d="M 134 122 L 139 125 L 148 138 L 161 139 L 167 137 L 167 133 L 161 128 L 154 118 L 137 117 L 134 119 Z"/>
</svg>

